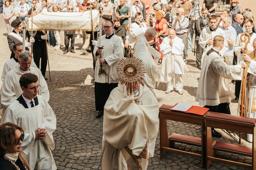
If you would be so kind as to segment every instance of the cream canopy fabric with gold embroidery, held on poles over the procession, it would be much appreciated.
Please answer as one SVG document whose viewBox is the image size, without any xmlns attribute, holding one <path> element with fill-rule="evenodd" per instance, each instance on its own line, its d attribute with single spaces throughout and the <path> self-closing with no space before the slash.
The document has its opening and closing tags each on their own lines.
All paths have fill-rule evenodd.
<svg viewBox="0 0 256 170">
<path fill-rule="evenodd" d="M 99 24 L 99 12 L 92 10 L 93 27 Z M 31 31 L 32 18 L 27 21 L 27 30 Z M 85 12 L 47 12 L 33 16 L 33 31 L 91 31 L 90 11 Z"/>
</svg>

